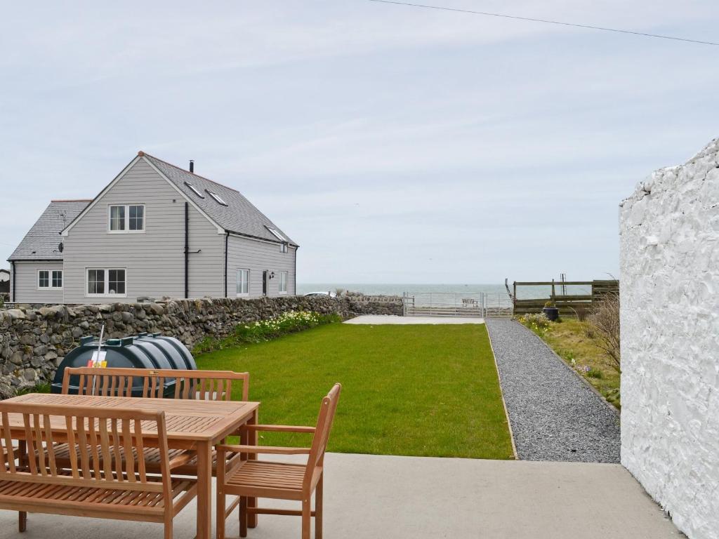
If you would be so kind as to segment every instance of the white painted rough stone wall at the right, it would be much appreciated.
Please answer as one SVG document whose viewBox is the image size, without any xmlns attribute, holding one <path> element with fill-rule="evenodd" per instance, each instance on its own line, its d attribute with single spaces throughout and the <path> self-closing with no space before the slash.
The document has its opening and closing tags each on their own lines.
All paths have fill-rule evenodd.
<svg viewBox="0 0 719 539">
<path fill-rule="evenodd" d="M 620 208 L 621 461 L 692 539 L 719 538 L 719 139 Z"/>
</svg>

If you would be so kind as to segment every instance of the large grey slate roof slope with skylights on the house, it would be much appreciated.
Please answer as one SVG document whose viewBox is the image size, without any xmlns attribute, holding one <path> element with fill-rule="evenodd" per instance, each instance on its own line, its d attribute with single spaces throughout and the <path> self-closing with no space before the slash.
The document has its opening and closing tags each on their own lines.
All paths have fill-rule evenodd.
<svg viewBox="0 0 719 539">
<path fill-rule="evenodd" d="M 239 191 L 193 174 L 175 165 L 170 165 L 170 163 L 144 152 L 142 152 L 141 155 L 145 155 L 147 160 L 157 167 L 157 170 L 160 170 L 162 174 L 167 176 L 187 198 L 193 201 L 193 203 L 196 203 L 202 211 L 226 231 L 266 239 L 267 241 L 274 241 L 275 243 L 282 243 L 282 241 L 267 230 L 267 227 L 269 227 L 279 231 L 290 244 L 297 245 L 277 225 L 270 221 L 270 218 L 255 208 L 247 198 L 244 198 Z M 193 193 L 186 185 L 186 182 L 193 185 L 204 198 L 200 198 Z M 222 206 L 217 203 L 207 191 L 219 195 L 219 197 L 227 203 L 227 206 Z"/>
</svg>

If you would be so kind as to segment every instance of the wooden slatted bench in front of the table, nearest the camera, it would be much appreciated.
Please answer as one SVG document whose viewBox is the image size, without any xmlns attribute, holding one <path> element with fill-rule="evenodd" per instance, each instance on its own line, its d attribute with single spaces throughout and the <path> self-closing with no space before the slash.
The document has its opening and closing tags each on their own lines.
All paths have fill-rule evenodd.
<svg viewBox="0 0 719 539">
<path fill-rule="evenodd" d="M 122 408 L 29 405 L 0 402 L 0 444 L 9 454 L 0 465 L 0 509 L 17 511 L 25 531 L 27 512 L 158 522 L 165 539 L 173 536 L 173 518 L 197 494 L 194 479 L 173 479 L 165 413 Z M 16 465 L 10 416 L 22 422 L 28 466 Z M 142 424 L 145 422 L 145 425 Z M 143 430 L 157 429 L 160 476 L 145 468 Z M 17 425 L 16 425 L 17 428 Z M 81 448 L 63 469 L 56 441 Z M 137 454 L 122 459 L 123 454 Z"/>
</svg>

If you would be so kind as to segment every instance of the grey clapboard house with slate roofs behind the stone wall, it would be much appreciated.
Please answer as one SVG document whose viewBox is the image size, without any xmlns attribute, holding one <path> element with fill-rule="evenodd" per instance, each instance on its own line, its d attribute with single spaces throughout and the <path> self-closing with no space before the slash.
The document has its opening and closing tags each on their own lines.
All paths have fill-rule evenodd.
<svg viewBox="0 0 719 539">
<path fill-rule="evenodd" d="M 138 152 L 91 201 L 50 203 L 9 257 L 11 301 L 293 295 L 297 248 L 237 190 Z"/>
</svg>

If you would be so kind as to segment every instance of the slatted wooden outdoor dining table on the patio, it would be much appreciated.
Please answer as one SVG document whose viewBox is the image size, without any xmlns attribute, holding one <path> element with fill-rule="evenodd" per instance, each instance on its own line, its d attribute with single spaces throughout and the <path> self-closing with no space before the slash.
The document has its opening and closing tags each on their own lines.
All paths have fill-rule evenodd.
<svg viewBox="0 0 719 539">
<path fill-rule="evenodd" d="M 212 523 L 212 448 L 246 423 L 257 423 L 259 402 L 236 402 L 214 400 L 145 399 L 141 397 L 95 397 L 86 395 L 50 395 L 28 393 L 13 397 L 7 402 L 31 404 L 98 406 L 132 408 L 165 412 L 170 449 L 193 449 L 197 451 L 197 537 L 210 539 Z M 9 416 L 12 437 L 24 441 L 22 416 Z M 17 426 L 17 428 L 16 428 Z M 52 425 L 55 430 L 55 425 Z M 64 420 L 58 421 L 57 429 L 65 430 Z M 146 439 L 145 439 L 146 438 Z M 143 443 L 157 445 L 152 429 L 145 433 Z M 250 440 L 249 443 L 255 443 Z"/>
</svg>

